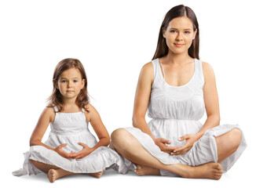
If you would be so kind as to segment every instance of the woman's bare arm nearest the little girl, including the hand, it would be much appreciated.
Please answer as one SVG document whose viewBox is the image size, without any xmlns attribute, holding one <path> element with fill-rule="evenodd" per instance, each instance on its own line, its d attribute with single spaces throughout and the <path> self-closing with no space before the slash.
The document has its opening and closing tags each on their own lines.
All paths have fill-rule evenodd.
<svg viewBox="0 0 256 188">
<path fill-rule="evenodd" d="M 148 128 L 148 124 L 145 120 L 153 81 L 153 65 L 151 62 L 146 63 L 141 69 L 141 74 L 137 83 L 133 106 L 133 127 L 140 128 L 142 132 L 152 137 L 155 144 L 159 146 L 162 151 L 170 153 L 174 150 L 174 147 L 166 146 L 166 144 L 170 144 L 170 140 L 166 140 L 164 138 L 155 138 L 155 136 L 152 135 L 152 132 Z"/>
</svg>

